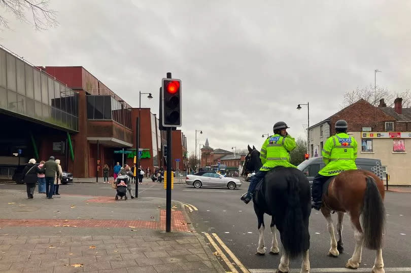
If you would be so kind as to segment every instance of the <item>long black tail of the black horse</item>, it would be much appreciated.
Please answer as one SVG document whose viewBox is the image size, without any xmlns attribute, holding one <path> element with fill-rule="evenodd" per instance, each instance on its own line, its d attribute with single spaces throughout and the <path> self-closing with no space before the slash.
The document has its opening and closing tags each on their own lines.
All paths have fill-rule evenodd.
<svg viewBox="0 0 411 273">
<path fill-rule="evenodd" d="M 282 243 L 290 258 L 296 258 L 304 251 L 306 230 L 300 205 L 300 190 L 297 175 L 287 177 L 287 209 L 285 212 Z"/>
</svg>

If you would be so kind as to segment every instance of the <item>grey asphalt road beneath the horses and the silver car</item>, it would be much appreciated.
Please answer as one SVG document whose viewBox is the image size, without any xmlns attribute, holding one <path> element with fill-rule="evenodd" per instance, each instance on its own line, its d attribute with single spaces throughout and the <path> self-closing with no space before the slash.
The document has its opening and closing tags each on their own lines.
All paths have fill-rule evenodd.
<svg viewBox="0 0 411 273">
<path fill-rule="evenodd" d="M 203 235 L 206 242 L 209 242 L 209 240 L 205 236 L 205 232 L 210 235 L 216 233 L 227 248 L 251 272 L 270 272 L 272 269 L 277 268 L 280 256 L 268 255 L 268 251 L 265 256 L 254 255 L 258 241 L 257 220 L 252 204 L 246 205 L 239 200 L 239 196 L 248 187 L 248 183 L 243 184 L 243 187 L 243 189 L 236 190 L 229 190 L 227 188 L 195 189 L 192 186 L 176 184 L 172 198 L 176 201 L 191 204 L 198 209 L 195 210 L 194 207 L 190 207 L 193 210 L 190 212 L 187 207 L 187 212 L 196 231 Z M 25 189 L 25 185 L 6 184 L 1 185 L 0 189 L 2 188 Z M 62 185 L 60 192 L 63 194 L 114 197 L 114 190 L 110 185 L 102 183 Z M 165 190 L 162 184 L 143 183 L 139 186 L 139 196 L 165 198 Z M 387 192 L 385 206 L 387 230 L 385 233 L 383 257 L 386 270 L 391 272 L 409 272 L 411 271 L 411 210 L 409 209 L 411 207 L 411 193 Z M 333 215 L 333 218 L 336 221 L 336 215 Z M 269 222 L 270 219 L 266 215 L 265 223 L 267 226 L 269 226 Z M 316 270 L 317 272 L 327 272 L 329 269 L 326 268 L 341 268 L 336 269 L 337 272 L 344 271 L 342 268 L 344 268 L 346 261 L 351 257 L 354 250 L 354 235 L 348 217 L 345 217 L 343 231 L 345 253 L 340 254 L 338 258 L 331 258 L 326 255 L 329 250 L 329 234 L 325 219 L 321 213 L 315 210 L 312 211 L 310 218 L 310 233 L 310 261 L 311 267 L 314 269 L 313 272 Z M 270 243 L 271 232 L 269 228 L 266 228 L 265 245 L 268 247 L 268 250 Z M 213 246 L 210 247 L 213 249 Z M 222 247 L 220 246 L 220 248 Z M 231 258 L 227 257 L 231 261 Z M 371 267 L 374 258 L 374 251 L 364 249 L 361 267 Z M 300 260 L 292 261 L 290 268 L 299 268 L 300 263 Z M 230 271 L 230 268 L 224 262 L 222 264 L 226 267 L 227 271 Z M 234 265 L 234 267 L 241 271 L 237 265 Z M 403 268 L 401 270 L 394 269 L 399 267 Z M 390 268 L 393 269 L 390 270 Z"/>
</svg>

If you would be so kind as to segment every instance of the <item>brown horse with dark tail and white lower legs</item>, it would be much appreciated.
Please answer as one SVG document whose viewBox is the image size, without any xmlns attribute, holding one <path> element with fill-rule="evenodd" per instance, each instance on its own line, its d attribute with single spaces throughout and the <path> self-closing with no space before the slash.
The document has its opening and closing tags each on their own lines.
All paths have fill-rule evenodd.
<svg viewBox="0 0 411 273">
<path fill-rule="evenodd" d="M 323 193 L 321 212 L 327 220 L 330 232 L 331 248 L 329 256 L 337 257 L 342 252 L 342 219 L 347 212 L 354 229 L 355 249 L 346 267 L 356 269 L 361 263 L 362 245 L 376 250 L 372 272 L 382 273 L 384 261 L 382 255 L 383 232 L 385 225 L 384 184 L 375 174 L 364 170 L 351 170 L 332 178 L 327 192 Z M 338 242 L 335 240 L 331 211 L 338 212 Z M 362 225 L 360 215 L 362 214 Z"/>
</svg>

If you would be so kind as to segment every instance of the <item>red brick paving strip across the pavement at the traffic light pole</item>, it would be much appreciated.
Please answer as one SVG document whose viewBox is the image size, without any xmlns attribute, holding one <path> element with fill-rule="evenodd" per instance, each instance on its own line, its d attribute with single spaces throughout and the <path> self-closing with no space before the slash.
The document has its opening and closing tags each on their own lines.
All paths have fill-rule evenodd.
<svg viewBox="0 0 411 273">
<path fill-rule="evenodd" d="M 98 220 L 98 219 L 0 219 L 0 226 L 56 226 L 70 227 L 130 227 L 165 229 L 165 210 L 160 211 L 160 221 L 143 220 Z M 172 211 L 172 230 L 190 231 L 190 226 L 181 211 Z"/>
</svg>

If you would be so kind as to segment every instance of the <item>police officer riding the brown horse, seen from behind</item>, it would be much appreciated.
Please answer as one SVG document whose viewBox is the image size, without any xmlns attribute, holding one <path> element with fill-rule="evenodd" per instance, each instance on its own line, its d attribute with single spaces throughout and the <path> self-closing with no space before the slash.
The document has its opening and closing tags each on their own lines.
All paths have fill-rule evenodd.
<svg viewBox="0 0 411 273">
<path fill-rule="evenodd" d="M 324 183 L 332 176 L 348 170 L 357 170 L 357 141 L 347 134 L 347 122 L 339 120 L 335 123 L 336 134 L 325 142 L 322 150 L 325 163 L 313 181 L 313 204 L 316 210 L 321 208 Z"/>
</svg>

